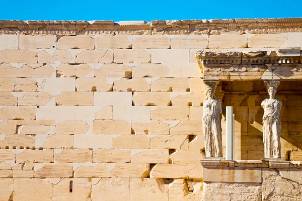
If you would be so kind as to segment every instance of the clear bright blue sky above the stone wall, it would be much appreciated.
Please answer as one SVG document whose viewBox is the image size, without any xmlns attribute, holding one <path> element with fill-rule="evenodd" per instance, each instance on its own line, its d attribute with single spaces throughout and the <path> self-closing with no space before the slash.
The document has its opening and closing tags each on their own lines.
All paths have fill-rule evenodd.
<svg viewBox="0 0 302 201">
<path fill-rule="evenodd" d="M 302 17 L 302 1 L 1 1 L 0 20 L 190 20 Z"/>
</svg>

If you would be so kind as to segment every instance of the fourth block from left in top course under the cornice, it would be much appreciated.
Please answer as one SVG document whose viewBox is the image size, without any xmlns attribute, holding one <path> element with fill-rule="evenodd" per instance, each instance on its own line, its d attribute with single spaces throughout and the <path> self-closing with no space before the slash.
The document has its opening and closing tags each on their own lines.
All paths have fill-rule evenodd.
<svg viewBox="0 0 302 201">
<path fill-rule="evenodd" d="M 96 49 L 131 49 L 131 36 L 97 36 L 95 37 Z"/>
</svg>

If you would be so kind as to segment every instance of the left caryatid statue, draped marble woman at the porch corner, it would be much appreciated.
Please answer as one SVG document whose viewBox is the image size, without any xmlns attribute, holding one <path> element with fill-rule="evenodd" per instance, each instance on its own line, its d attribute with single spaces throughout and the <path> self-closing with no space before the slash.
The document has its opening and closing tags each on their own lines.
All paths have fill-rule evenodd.
<svg viewBox="0 0 302 201">
<path fill-rule="evenodd" d="M 202 127 L 206 157 L 222 157 L 220 130 L 221 103 L 215 97 L 217 80 L 204 80 L 206 98 L 203 101 Z"/>
</svg>

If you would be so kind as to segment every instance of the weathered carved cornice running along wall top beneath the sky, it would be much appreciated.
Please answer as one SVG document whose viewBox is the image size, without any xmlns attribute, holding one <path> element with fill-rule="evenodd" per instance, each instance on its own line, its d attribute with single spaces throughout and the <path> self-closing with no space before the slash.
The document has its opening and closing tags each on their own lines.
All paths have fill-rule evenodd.
<svg viewBox="0 0 302 201">
<path fill-rule="evenodd" d="M 145 21 L 0 20 L 0 34 L 31 35 L 219 35 L 302 32 L 302 18 Z"/>
</svg>

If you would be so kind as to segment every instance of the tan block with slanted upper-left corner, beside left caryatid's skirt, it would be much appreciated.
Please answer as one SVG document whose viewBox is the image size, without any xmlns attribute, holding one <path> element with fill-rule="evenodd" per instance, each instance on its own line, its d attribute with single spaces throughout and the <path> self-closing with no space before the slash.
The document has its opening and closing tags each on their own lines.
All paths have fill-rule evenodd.
<svg viewBox="0 0 302 201">
<path fill-rule="evenodd" d="M 170 129 L 170 134 L 179 135 L 179 134 L 202 134 L 202 121 L 185 121 L 182 120 L 175 127 Z"/>
</svg>

